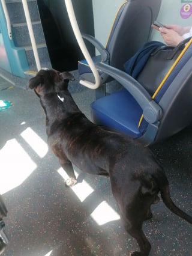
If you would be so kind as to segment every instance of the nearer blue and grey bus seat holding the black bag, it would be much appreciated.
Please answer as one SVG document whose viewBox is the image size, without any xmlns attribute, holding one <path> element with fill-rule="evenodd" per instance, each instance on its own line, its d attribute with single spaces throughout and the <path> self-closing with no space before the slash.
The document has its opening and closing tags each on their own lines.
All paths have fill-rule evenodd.
<svg viewBox="0 0 192 256">
<path fill-rule="evenodd" d="M 112 76 L 124 90 L 95 100 L 91 104 L 92 121 L 127 133 L 145 145 L 174 135 L 192 121 L 192 39 L 184 54 L 154 96 L 127 73 L 105 63 L 96 64 Z M 145 70 L 145 69 L 144 69 Z M 148 74 L 150 75 L 150 74 Z"/>
</svg>

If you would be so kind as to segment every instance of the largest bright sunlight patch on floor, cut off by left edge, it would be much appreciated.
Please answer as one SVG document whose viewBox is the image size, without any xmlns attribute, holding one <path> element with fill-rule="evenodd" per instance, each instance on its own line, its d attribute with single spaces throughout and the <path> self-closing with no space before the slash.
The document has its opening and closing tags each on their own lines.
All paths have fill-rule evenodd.
<svg viewBox="0 0 192 256">
<path fill-rule="evenodd" d="M 6 142 L 0 150 L 1 179 L 0 194 L 22 184 L 37 168 L 31 157 L 16 139 Z"/>
</svg>

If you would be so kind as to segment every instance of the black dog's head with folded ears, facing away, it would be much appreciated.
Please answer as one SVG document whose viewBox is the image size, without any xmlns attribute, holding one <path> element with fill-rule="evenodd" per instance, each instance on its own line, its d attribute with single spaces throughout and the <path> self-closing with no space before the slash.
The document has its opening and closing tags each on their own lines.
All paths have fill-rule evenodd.
<svg viewBox="0 0 192 256">
<path fill-rule="evenodd" d="M 68 82 L 74 81 L 74 76 L 68 72 L 58 72 L 53 69 L 40 70 L 28 82 L 28 88 L 34 89 L 38 96 L 47 93 L 67 90 Z"/>
</svg>

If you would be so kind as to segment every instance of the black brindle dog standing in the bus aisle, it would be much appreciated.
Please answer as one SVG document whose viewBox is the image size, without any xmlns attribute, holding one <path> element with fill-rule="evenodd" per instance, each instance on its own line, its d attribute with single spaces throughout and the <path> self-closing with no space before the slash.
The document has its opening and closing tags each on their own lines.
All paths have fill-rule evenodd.
<svg viewBox="0 0 192 256">
<path fill-rule="evenodd" d="M 109 176 L 125 230 L 140 246 L 131 255 L 146 256 L 151 245 L 142 224 L 152 218 L 150 207 L 158 203 L 159 192 L 173 213 L 190 224 L 192 217 L 173 203 L 166 175 L 149 148 L 91 123 L 67 90 L 69 80 L 74 80 L 70 73 L 55 70 L 40 70 L 29 80 L 46 113 L 48 143 L 70 176 L 68 186 L 76 183 L 72 163 L 89 174 Z"/>
</svg>

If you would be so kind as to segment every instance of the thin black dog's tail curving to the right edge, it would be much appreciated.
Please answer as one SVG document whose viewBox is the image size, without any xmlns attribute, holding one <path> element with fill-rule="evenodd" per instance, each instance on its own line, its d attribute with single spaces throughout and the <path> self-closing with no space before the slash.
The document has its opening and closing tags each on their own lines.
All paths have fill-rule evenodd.
<svg viewBox="0 0 192 256">
<path fill-rule="evenodd" d="M 170 197 L 169 181 L 167 180 L 166 175 L 163 172 L 161 172 L 161 177 L 158 177 L 158 179 L 155 179 L 155 181 L 157 182 L 160 188 L 161 198 L 163 199 L 163 202 L 166 205 L 166 207 L 170 211 L 181 217 L 182 219 L 185 219 L 185 221 L 192 224 L 192 216 L 183 212 L 173 203 L 172 198 Z"/>
</svg>

